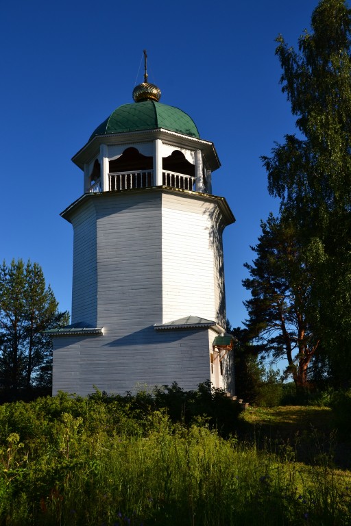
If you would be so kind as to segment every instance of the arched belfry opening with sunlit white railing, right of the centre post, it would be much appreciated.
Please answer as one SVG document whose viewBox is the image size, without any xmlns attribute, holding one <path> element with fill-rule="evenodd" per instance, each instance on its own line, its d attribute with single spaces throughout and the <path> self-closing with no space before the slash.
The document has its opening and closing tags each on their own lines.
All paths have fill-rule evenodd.
<svg viewBox="0 0 351 526">
<path fill-rule="evenodd" d="M 171 155 L 162 158 L 162 184 L 193 190 L 195 187 L 195 165 L 189 162 L 184 153 L 172 151 Z"/>
</svg>

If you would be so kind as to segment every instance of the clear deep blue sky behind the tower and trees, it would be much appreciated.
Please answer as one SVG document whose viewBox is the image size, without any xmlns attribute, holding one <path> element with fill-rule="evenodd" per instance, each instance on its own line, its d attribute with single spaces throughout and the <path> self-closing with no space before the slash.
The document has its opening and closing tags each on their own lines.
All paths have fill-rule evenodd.
<svg viewBox="0 0 351 526">
<path fill-rule="evenodd" d="M 260 155 L 295 130 L 279 85 L 274 38 L 295 46 L 316 0 L 43 0 L 0 8 L 0 260 L 38 262 L 61 310 L 71 310 L 73 232 L 59 214 L 82 195 L 71 157 L 143 81 L 189 113 L 215 143 L 213 193 L 237 222 L 224 234 L 227 314 L 246 313 L 241 280 L 260 220 L 277 212 Z M 138 75 L 138 76 L 137 76 Z M 189 313 L 194 314 L 194 313 Z"/>
</svg>

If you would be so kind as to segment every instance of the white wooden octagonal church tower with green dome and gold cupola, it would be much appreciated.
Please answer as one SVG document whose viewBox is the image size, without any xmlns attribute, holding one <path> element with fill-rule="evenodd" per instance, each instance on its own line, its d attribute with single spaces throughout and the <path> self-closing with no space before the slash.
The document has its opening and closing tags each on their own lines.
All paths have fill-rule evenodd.
<svg viewBox="0 0 351 526">
<path fill-rule="evenodd" d="M 74 231 L 72 318 L 49 331 L 53 395 L 207 379 L 234 395 L 222 249 L 234 216 L 212 194 L 217 151 L 159 102 L 146 54 L 133 99 L 73 157 L 84 192 L 61 214 Z"/>
</svg>

